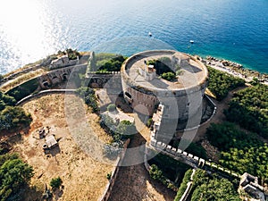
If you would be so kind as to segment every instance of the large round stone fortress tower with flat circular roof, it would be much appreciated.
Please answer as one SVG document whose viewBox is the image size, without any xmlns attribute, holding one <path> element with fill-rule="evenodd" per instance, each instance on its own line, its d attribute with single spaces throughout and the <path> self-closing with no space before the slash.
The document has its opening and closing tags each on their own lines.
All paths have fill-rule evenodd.
<svg viewBox="0 0 268 201">
<path fill-rule="evenodd" d="M 176 73 L 176 78 L 163 80 L 161 69 L 157 69 L 154 61 Z M 207 78 L 203 63 L 173 50 L 134 54 L 121 67 L 124 98 L 135 111 L 152 116 L 161 103 L 165 106 L 163 115 L 179 123 L 202 113 Z M 197 123 L 190 126 L 197 126 L 194 124 Z"/>
</svg>

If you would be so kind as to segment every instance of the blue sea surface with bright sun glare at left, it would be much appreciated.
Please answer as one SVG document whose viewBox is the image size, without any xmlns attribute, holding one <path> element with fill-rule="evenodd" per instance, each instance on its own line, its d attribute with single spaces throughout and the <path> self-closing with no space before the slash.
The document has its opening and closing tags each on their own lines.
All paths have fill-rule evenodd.
<svg viewBox="0 0 268 201">
<path fill-rule="evenodd" d="M 67 47 L 125 55 L 172 48 L 268 72 L 268 1 L 1 0 L 0 73 Z"/>
</svg>

